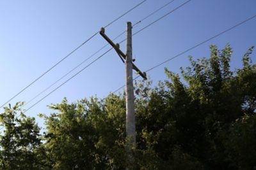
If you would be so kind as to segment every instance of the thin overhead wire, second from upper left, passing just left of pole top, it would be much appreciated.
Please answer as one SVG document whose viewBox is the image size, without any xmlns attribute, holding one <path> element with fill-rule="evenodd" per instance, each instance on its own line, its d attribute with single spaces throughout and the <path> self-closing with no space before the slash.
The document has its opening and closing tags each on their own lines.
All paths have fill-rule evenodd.
<svg viewBox="0 0 256 170">
<path fill-rule="evenodd" d="M 155 13 L 157 13 L 157 11 L 162 10 L 164 7 L 168 6 L 168 4 L 171 4 L 173 1 L 169 1 L 168 3 L 164 4 L 163 6 L 161 6 L 160 8 L 158 8 L 157 10 L 153 11 L 152 13 L 150 13 L 149 15 L 147 15 L 146 17 L 142 18 L 139 22 L 136 22 L 136 24 L 132 25 L 132 27 L 134 27 L 135 25 L 140 24 L 141 22 L 143 22 L 143 20 L 146 20 L 148 17 L 154 15 Z M 105 26 L 106 27 L 106 26 Z M 118 36 L 116 36 L 113 41 L 117 38 L 119 38 L 120 36 L 122 36 L 126 31 L 121 32 L 120 34 L 118 34 Z M 123 41 L 122 41 L 123 42 Z M 120 43 L 122 43 L 120 42 Z M 81 66 L 84 64 L 84 62 L 86 62 L 87 60 L 91 59 L 93 56 L 95 56 L 97 53 L 99 53 L 101 50 L 103 50 L 104 48 L 106 48 L 106 46 L 108 46 L 109 44 L 107 43 L 106 45 L 102 46 L 102 48 L 100 48 L 99 50 L 97 50 L 97 52 L 93 53 L 92 55 L 90 55 L 90 57 L 87 57 L 86 59 L 84 59 L 80 64 L 78 64 L 76 67 L 74 67 L 73 69 L 71 69 L 70 71 L 68 71 L 66 74 L 64 74 L 63 76 L 61 76 L 61 78 L 59 78 L 58 80 L 54 81 L 54 83 L 52 83 L 51 85 L 49 85 L 47 88 L 45 88 L 44 90 L 42 90 L 42 92 L 38 93 L 35 97 L 33 97 L 32 99 L 30 99 L 28 102 L 26 102 L 22 107 L 26 106 L 27 104 L 31 103 L 31 101 L 33 101 L 34 99 L 36 99 L 36 97 L 40 96 L 41 94 L 43 94 L 44 92 L 46 92 L 48 89 L 50 89 L 53 85 L 55 85 L 56 83 L 58 83 L 60 80 L 62 80 L 63 78 L 65 78 L 66 76 L 68 76 L 68 74 L 72 73 L 74 70 L 77 69 L 77 67 Z"/>
</svg>

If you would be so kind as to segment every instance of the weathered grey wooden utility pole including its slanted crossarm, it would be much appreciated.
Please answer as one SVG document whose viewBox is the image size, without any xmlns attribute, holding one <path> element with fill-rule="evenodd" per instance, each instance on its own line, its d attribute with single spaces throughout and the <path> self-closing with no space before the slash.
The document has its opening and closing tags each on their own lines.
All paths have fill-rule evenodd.
<svg viewBox="0 0 256 170">
<path fill-rule="evenodd" d="M 111 39 L 105 34 L 104 28 L 101 28 L 100 35 L 108 41 L 108 43 L 116 50 L 120 59 L 125 62 L 125 92 L 126 92 L 126 137 L 127 137 L 127 162 L 132 165 L 134 161 L 132 157 L 132 150 L 136 148 L 136 127 L 135 127 L 135 115 L 134 115 L 134 90 L 133 90 L 133 78 L 132 69 L 134 69 L 144 80 L 147 80 L 146 73 L 142 73 L 138 67 L 132 63 L 132 24 L 127 22 L 126 32 L 126 55 L 119 49 L 119 45 L 113 43 Z M 126 169 L 133 169 L 127 167 Z"/>
</svg>

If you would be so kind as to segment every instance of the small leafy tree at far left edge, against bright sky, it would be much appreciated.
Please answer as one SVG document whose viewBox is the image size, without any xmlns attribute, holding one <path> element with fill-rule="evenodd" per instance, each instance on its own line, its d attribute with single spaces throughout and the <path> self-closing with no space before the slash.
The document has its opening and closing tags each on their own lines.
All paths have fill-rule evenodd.
<svg viewBox="0 0 256 170">
<path fill-rule="evenodd" d="M 0 135 L 0 168 L 47 169 L 42 159 L 44 148 L 40 128 L 35 124 L 35 118 L 22 113 L 20 106 L 22 103 L 15 104 L 13 108 L 6 107 L 0 114 L 4 127 Z"/>
</svg>

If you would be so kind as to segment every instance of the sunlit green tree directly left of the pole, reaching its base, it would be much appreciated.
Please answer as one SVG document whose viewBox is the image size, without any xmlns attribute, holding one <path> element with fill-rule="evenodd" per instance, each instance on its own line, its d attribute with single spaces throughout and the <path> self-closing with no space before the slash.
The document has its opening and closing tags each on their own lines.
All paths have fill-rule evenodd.
<svg viewBox="0 0 256 170">
<path fill-rule="evenodd" d="M 120 169 L 123 166 L 124 98 L 115 95 L 50 106 L 45 147 L 53 169 Z M 118 162 L 118 163 L 117 163 Z"/>
</svg>

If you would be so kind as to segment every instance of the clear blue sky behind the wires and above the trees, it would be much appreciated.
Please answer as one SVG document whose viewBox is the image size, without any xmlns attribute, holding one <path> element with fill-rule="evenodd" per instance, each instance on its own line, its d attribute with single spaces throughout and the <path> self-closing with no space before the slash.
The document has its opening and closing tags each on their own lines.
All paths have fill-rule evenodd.
<svg viewBox="0 0 256 170">
<path fill-rule="evenodd" d="M 140 2 L 138 0 L 0 1 L 0 104 L 8 101 L 10 97 L 17 94 L 40 74 L 92 36 L 93 33 L 99 31 L 100 27 L 108 24 Z M 125 30 L 127 21 L 136 23 L 167 2 L 168 0 L 147 0 L 136 10 L 122 17 L 115 24 L 110 25 L 106 29 L 106 34 L 110 38 L 114 38 Z M 133 32 L 138 31 L 184 2 L 175 0 L 163 10 L 141 22 L 138 27 L 134 27 Z M 255 15 L 255 8 L 255 0 L 193 0 L 133 37 L 135 63 L 142 71 L 147 70 L 168 59 L 168 57 L 177 55 L 196 45 L 196 43 L 200 43 L 218 34 L 218 32 Z M 189 66 L 188 55 L 192 55 L 195 59 L 209 57 L 209 45 L 217 45 L 219 48 L 223 48 L 227 43 L 230 43 L 234 48 L 232 67 L 240 67 L 243 53 L 250 46 L 256 45 L 255 30 L 256 19 L 253 19 L 219 38 L 150 71 L 148 76 L 154 83 L 157 83 L 159 80 L 166 79 L 164 67 L 179 73 L 179 67 Z M 115 42 L 124 38 L 125 35 Z M 105 44 L 106 41 L 100 35 L 97 35 L 92 41 L 77 50 L 74 55 L 61 62 L 50 73 L 13 99 L 11 103 L 29 101 L 38 92 L 51 85 Z M 121 49 L 125 52 L 125 44 L 121 45 Z M 253 54 L 254 58 L 255 53 Z M 255 59 L 253 61 L 255 62 Z M 86 66 L 88 62 L 83 66 Z M 49 114 L 52 111 L 47 108 L 47 104 L 60 103 L 63 97 L 67 97 L 68 101 L 72 102 L 95 95 L 98 97 L 108 96 L 109 92 L 113 92 L 124 85 L 124 68 L 124 64 L 118 59 L 115 51 L 111 51 L 26 114 L 33 117 L 36 117 L 38 113 Z M 65 80 L 60 83 L 63 81 Z M 55 87 L 58 85 L 55 85 Z M 40 97 L 35 99 L 33 103 L 38 101 Z M 3 109 L 0 111 L 3 111 Z M 36 118 L 36 121 L 42 126 L 40 118 Z"/>
</svg>

